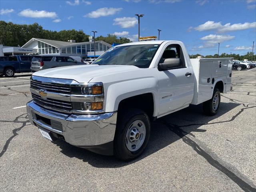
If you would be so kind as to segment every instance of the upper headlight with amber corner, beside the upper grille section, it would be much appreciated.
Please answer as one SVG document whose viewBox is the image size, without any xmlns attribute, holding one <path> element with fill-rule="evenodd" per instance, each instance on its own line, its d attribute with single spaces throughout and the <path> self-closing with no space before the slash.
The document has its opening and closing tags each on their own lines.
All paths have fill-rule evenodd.
<svg viewBox="0 0 256 192">
<path fill-rule="evenodd" d="M 100 95 L 103 94 L 103 85 L 88 84 L 71 87 L 73 95 Z"/>
</svg>

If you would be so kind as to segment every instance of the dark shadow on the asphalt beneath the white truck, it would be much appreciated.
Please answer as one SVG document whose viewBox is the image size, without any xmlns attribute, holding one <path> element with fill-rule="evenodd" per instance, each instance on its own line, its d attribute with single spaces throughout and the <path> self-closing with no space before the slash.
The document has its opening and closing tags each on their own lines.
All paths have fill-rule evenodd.
<svg viewBox="0 0 256 192">
<path fill-rule="evenodd" d="M 95 154 L 88 150 L 72 146 L 62 140 L 56 142 L 56 145 L 62 149 L 61 152 L 66 156 L 70 158 L 81 159 L 84 162 L 88 162 L 94 167 L 118 168 L 146 158 L 147 156 L 161 150 L 162 148 L 172 144 L 173 142 L 180 140 L 182 137 L 179 136 L 176 131 L 173 131 L 173 128 L 178 128 L 179 130 L 181 130 L 182 128 L 181 131 L 184 136 L 186 134 L 190 134 L 193 136 L 191 132 L 206 132 L 206 130 L 200 129 L 202 125 L 208 124 L 208 122 L 226 114 L 228 111 L 236 108 L 238 105 L 240 104 L 222 102 L 216 116 L 205 116 L 202 112 L 202 105 L 192 105 L 173 114 L 159 118 L 152 123 L 150 140 L 148 142 L 146 150 L 139 158 L 130 162 L 122 162 L 116 159 L 114 156 L 103 156 Z M 234 118 L 230 117 L 224 122 L 230 122 L 232 120 L 234 120 Z M 174 126 L 172 126 L 172 128 L 168 128 L 168 125 L 166 123 L 170 123 L 171 126 Z M 221 122 L 214 122 L 211 124 L 216 123 Z"/>
</svg>

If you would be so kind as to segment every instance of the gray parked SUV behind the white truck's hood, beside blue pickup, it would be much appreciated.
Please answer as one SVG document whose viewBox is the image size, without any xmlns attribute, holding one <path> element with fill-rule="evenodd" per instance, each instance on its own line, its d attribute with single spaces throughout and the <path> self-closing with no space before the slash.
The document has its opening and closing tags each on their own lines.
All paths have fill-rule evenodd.
<svg viewBox="0 0 256 192">
<path fill-rule="evenodd" d="M 30 70 L 31 72 L 36 72 L 54 67 L 63 67 L 78 64 L 83 63 L 77 62 L 73 58 L 67 56 L 34 56 L 32 58 Z"/>
</svg>

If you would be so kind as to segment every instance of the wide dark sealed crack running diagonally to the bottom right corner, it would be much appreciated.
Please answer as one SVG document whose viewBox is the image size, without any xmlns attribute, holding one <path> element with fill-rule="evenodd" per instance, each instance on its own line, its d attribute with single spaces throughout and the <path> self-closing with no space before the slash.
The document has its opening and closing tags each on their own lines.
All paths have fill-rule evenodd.
<svg viewBox="0 0 256 192">
<path fill-rule="evenodd" d="M 220 164 L 217 160 L 215 160 L 210 154 L 208 154 L 206 151 L 204 151 L 196 142 L 194 142 L 192 139 L 190 139 L 188 136 L 186 136 L 184 131 L 180 128 L 180 126 L 171 124 L 167 121 L 161 121 L 162 124 L 167 126 L 170 131 L 174 132 L 176 135 L 178 135 L 182 141 L 189 146 L 193 148 L 194 151 L 196 151 L 197 154 L 202 156 L 207 160 L 209 164 L 220 170 L 222 173 L 224 173 L 226 176 L 228 176 L 232 181 L 234 181 L 242 190 L 245 192 L 256 192 L 256 188 L 253 188 L 248 183 L 244 182 L 241 178 L 239 178 L 234 172 L 228 170 L 225 166 Z"/>
</svg>

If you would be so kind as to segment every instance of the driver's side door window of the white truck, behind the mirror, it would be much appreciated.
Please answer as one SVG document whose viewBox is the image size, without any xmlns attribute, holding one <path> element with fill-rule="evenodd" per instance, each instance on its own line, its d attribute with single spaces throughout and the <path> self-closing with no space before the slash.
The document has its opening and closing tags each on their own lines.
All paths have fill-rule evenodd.
<svg viewBox="0 0 256 192">
<path fill-rule="evenodd" d="M 182 49 L 181 49 L 180 45 L 172 44 L 172 45 L 169 45 L 168 47 L 166 47 L 159 63 L 164 63 L 164 61 L 169 58 L 179 58 L 180 59 L 180 66 L 175 67 L 175 69 L 186 67 L 185 62 L 184 62 L 184 56 L 183 56 Z"/>
</svg>

